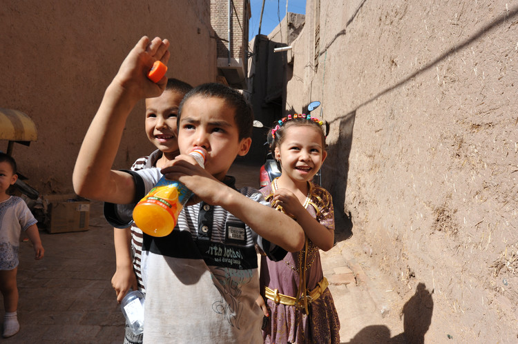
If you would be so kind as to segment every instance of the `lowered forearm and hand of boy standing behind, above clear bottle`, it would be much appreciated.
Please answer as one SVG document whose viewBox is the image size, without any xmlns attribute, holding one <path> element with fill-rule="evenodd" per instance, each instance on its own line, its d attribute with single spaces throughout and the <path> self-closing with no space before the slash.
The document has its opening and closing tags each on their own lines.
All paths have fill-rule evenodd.
<svg viewBox="0 0 518 344">
<path fill-rule="evenodd" d="M 120 303 L 130 288 L 138 289 L 130 250 L 131 228 L 113 228 L 113 243 L 115 244 L 116 270 L 111 279 L 111 285 L 117 294 L 117 302 Z"/>
</svg>

